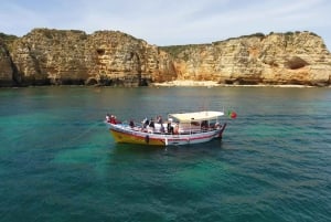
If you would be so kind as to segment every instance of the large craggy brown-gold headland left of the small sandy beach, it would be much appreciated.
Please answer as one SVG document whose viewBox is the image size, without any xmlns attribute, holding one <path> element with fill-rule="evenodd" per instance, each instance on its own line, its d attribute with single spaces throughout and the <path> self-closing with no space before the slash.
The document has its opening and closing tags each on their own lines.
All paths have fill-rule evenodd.
<svg viewBox="0 0 331 222">
<path fill-rule="evenodd" d="M 148 85 L 175 75 L 167 53 L 114 31 L 35 29 L 11 43 L 20 85 Z"/>
</svg>

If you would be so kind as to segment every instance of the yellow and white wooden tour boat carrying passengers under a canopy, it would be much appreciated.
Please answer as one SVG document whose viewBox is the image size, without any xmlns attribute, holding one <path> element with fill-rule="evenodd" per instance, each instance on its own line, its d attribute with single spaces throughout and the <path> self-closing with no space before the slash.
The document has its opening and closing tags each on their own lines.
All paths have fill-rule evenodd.
<svg viewBox="0 0 331 222">
<path fill-rule="evenodd" d="M 195 113 L 169 114 L 168 120 L 142 124 L 117 123 L 107 116 L 106 125 L 116 142 L 171 146 L 206 142 L 221 139 L 226 123 L 221 124 L 223 112 L 203 110 Z"/>
</svg>

